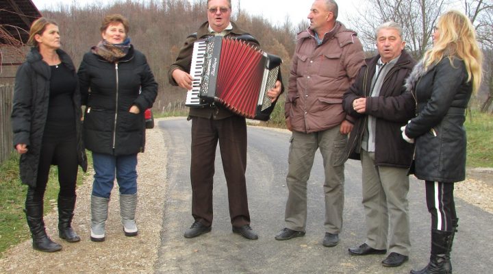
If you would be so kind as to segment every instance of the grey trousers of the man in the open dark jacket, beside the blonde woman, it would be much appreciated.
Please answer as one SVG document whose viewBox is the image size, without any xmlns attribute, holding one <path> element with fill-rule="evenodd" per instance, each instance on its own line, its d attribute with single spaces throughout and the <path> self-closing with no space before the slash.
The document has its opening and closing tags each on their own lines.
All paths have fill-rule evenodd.
<svg viewBox="0 0 493 274">
<path fill-rule="evenodd" d="M 366 244 L 409 256 L 409 177 L 407 169 L 375 166 L 375 153 L 362 149 Z"/>
</svg>

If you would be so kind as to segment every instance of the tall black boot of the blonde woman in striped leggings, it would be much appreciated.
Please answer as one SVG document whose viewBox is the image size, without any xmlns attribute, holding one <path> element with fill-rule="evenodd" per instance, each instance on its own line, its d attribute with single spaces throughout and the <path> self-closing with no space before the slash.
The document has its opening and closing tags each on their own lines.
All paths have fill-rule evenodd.
<svg viewBox="0 0 493 274">
<path fill-rule="evenodd" d="M 448 262 L 450 271 L 452 271 L 450 264 L 452 233 L 431 229 L 430 261 L 424 269 L 420 271 L 412 270 L 410 274 L 447 274 L 446 262 Z"/>
</svg>

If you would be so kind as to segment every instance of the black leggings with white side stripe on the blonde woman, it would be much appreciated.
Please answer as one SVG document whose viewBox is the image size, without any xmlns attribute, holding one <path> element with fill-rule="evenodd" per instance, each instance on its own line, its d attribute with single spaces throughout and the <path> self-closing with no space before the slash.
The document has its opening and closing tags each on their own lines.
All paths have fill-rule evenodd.
<svg viewBox="0 0 493 274">
<path fill-rule="evenodd" d="M 453 231 L 452 220 L 457 219 L 453 198 L 453 183 L 426 181 L 426 199 L 431 214 L 431 228 Z"/>
</svg>

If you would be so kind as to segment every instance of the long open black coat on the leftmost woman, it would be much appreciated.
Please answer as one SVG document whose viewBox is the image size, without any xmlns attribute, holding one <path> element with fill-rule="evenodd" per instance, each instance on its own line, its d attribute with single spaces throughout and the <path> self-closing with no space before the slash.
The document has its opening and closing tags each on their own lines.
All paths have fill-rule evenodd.
<svg viewBox="0 0 493 274">
<path fill-rule="evenodd" d="M 73 71 L 75 67 L 71 58 L 61 49 L 57 50 L 60 60 Z M 19 173 L 23 184 L 36 187 L 40 159 L 42 136 L 48 115 L 51 69 L 42 60 L 37 47 L 27 54 L 26 61 L 21 64 L 15 79 L 14 101 L 12 104 L 12 130 L 14 147 L 26 144 L 27 153 L 21 155 Z M 87 159 L 81 130 L 81 105 L 79 86 L 73 94 L 75 110 L 75 129 L 77 133 L 77 156 L 79 165 L 87 171 Z"/>
</svg>

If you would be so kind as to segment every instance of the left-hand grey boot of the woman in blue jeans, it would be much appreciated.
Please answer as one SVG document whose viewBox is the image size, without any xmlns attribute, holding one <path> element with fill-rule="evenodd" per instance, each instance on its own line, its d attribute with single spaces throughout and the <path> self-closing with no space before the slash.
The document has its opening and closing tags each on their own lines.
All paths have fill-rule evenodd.
<svg viewBox="0 0 493 274">
<path fill-rule="evenodd" d="M 105 240 L 105 221 L 108 219 L 109 198 L 91 195 L 91 240 L 103 242 Z"/>
</svg>

